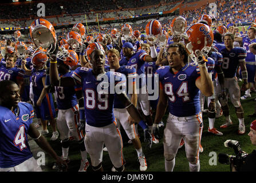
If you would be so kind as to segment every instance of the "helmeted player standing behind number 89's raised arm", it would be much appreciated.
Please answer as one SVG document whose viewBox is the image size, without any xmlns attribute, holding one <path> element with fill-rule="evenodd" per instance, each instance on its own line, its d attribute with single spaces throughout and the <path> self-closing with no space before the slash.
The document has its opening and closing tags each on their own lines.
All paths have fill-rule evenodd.
<svg viewBox="0 0 256 183">
<path fill-rule="evenodd" d="M 73 71 L 70 70 L 71 67 L 76 66 L 78 63 L 78 55 L 73 50 L 66 50 L 65 55 L 60 58 L 57 58 L 58 61 L 58 73 L 60 77 L 69 77 L 73 74 Z M 55 87 L 55 96 L 57 98 L 57 108 L 58 116 L 56 119 L 58 130 L 60 131 L 61 146 L 62 146 L 62 158 L 63 160 L 68 160 L 69 152 L 69 132 L 72 134 L 72 137 L 78 142 L 80 152 L 81 152 L 81 165 L 78 172 L 86 172 L 89 161 L 87 160 L 87 152 L 84 145 L 84 134 L 82 130 L 78 129 L 79 111 L 84 107 L 84 101 L 81 94 L 77 94 L 82 104 L 77 104 L 76 92 L 81 92 L 80 87 Z M 82 116 L 84 116 L 84 110 L 82 110 Z M 84 117 L 83 117 L 84 118 Z"/>
</svg>

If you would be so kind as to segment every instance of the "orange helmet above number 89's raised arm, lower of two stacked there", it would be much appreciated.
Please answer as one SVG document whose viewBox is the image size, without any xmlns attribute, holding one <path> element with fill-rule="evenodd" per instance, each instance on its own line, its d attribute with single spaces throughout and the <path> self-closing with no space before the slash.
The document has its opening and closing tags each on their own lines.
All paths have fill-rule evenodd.
<svg viewBox="0 0 256 183">
<path fill-rule="evenodd" d="M 82 47 L 82 39 L 81 35 L 75 31 L 70 31 L 68 35 L 66 35 L 67 42 L 72 49 L 76 51 L 80 51 Z"/>
</svg>

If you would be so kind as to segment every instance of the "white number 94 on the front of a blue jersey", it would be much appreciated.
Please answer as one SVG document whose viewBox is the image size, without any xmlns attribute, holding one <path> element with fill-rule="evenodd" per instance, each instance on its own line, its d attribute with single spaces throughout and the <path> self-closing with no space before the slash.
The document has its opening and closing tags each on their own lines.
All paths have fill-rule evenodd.
<svg viewBox="0 0 256 183">
<path fill-rule="evenodd" d="M 176 97 L 174 95 L 172 83 L 166 83 L 166 85 L 164 85 L 164 92 L 167 94 L 167 96 L 169 96 L 169 100 L 171 102 L 175 102 Z M 190 97 L 188 97 L 189 94 L 188 94 L 187 82 L 182 82 L 176 95 L 178 97 L 182 97 L 183 102 L 190 100 Z"/>
</svg>

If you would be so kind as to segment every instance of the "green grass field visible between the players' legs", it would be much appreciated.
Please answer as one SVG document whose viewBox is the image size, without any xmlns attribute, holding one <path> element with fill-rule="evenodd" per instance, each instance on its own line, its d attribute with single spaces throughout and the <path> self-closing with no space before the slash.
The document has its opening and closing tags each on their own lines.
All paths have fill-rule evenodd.
<svg viewBox="0 0 256 183">
<path fill-rule="evenodd" d="M 241 85 L 241 83 L 239 83 Z M 241 93 L 241 96 L 243 93 Z M 200 171 L 202 172 L 229 172 L 229 165 L 222 165 L 218 162 L 218 154 L 219 153 L 227 153 L 227 154 L 234 154 L 234 150 L 232 148 L 225 148 L 223 145 L 223 142 L 226 140 L 237 140 L 240 142 L 242 149 L 245 152 L 252 152 L 253 149 L 255 149 L 255 146 L 251 145 L 250 138 L 247 136 L 249 133 L 249 125 L 251 121 L 255 120 L 254 118 L 248 117 L 249 114 L 254 113 L 254 107 L 255 107 L 255 101 L 254 98 L 256 97 L 256 93 L 251 93 L 251 98 L 248 98 L 247 100 L 242 101 L 242 106 L 245 111 L 245 125 L 246 125 L 246 134 L 242 136 L 238 136 L 236 134 L 238 130 L 238 119 L 235 114 L 235 110 L 233 105 L 230 106 L 230 117 L 233 121 L 233 125 L 229 126 L 227 129 L 221 129 L 220 132 L 223 132 L 223 136 L 215 136 L 211 133 L 207 132 L 208 128 L 208 118 L 207 114 L 203 114 L 203 133 L 202 133 L 202 141 L 201 144 L 204 148 L 203 153 L 200 153 Z M 166 123 L 167 114 L 164 116 L 163 121 Z M 215 121 L 215 128 L 219 129 L 219 126 L 225 122 L 225 117 L 217 118 Z M 49 132 L 51 130 L 49 126 Z M 163 133 L 163 127 L 160 128 L 160 132 Z M 142 138 L 141 142 L 143 141 L 143 131 L 139 127 L 139 133 Z M 125 170 L 129 172 L 137 172 L 139 171 L 139 163 L 137 162 L 137 153 L 132 145 L 128 144 L 128 137 L 126 136 L 123 129 L 121 129 L 121 134 L 123 137 L 123 152 L 125 160 L 127 161 L 127 164 L 125 165 Z M 57 152 L 59 156 L 61 156 L 61 144 L 60 144 L 60 138 L 58 138 L 57 141 L 50 141 L 51 133 L 45 136 L 47 140 L 49 141 L 50 145 L 53 147 L 53 149 Z M 148 165 L 148 172 L 164 172 L 164 156 L 163 156 L 163 139 L 160 140 L 159 144 L 152 144 L 151 149 L 145 149 L 145 143 L 142 142 L 143 145 L 143 151 L 145 154 L 145 157 L 147 158 L 147 165 Z M 37 152 L 40 151 L 38 149 L 36 143 L 34 141 L 29 141 L 31 146 L 31 151 L 34 154 L 34 157 L 37 157 Z M 212 158 L 212 156 L 209 156 L 211 152 L 216 153 L 216 165 L 210 165 L 209 160 Z M 77 142 L 72 141 L 69 148 L 69 158 L 70 158 L 70 164 L 69 164 L 69 171 L 77 172 L 77 170 L 80 167 L 80 150 L 78 148 Z M 88 160 L 89 160 L 89 154 L 88 154 Z M 90 160 L 89 160 L 90 161 Z M 53 158 L 46 154 L 46 165 L 41 166 L 44 171 L 52 172 L 54 171 L 52 169 L 53 165 Z M 105 171 L 111 171 L 112 163 L 109 159 L 108 152 L 103 153 L 103 167 Z M 183 148 L 179 149 L 178 154 L 176 156 L 176 164 L 174 168 L 175 172 L 188 172 L 188 161 L 186 159 L 186 154 Z M 92 172 L 92 167 L 89 166 L 88 172 Z"/>
</svg>

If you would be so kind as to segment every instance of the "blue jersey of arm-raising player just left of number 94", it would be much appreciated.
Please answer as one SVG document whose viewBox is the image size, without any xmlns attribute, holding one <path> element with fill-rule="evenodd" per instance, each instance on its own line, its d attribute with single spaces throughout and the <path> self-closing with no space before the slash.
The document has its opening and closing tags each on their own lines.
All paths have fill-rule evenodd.
<svg viewBox="0 0 256 183">
<path fill-rule="evenodd" d="M 145 75 L 143 77 L 143 74 L 145 74 L 144 70 L 144 63 L 145 63 L 145 56 L 148 55 L 144 50 L 137 51 L 132 55 L 132 57 L 129 59 L 126 65 L 135 67 L 136 73 L 141 76 L 141 80 L 139 80 L 139 88 L 145 86 L 146 79 Z"/>
</svg>

